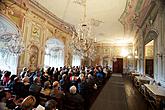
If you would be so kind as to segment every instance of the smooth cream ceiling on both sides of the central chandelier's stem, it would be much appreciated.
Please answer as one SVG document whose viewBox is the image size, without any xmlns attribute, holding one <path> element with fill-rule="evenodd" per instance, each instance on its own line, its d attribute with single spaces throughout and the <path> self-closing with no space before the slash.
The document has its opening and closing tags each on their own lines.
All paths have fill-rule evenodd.
<svg viewBox="0 0 165 110">
<path fill-rule="evenodd" d="M 77 25 L 82 18 L 82 7 L 75 0 L 36 0 L 60 19 Z M 77 1 L 77 0 L 76 0 Z M 87 17 L 97 21 L 94 37 L 101 43 L 113 43 L 116 40 L 127 39 L 124 36 L 123 25 L 119 22 L 127 0 L 87 0 Z M 124 38 L 125 37 L 125 38 Z"/>
</svg>

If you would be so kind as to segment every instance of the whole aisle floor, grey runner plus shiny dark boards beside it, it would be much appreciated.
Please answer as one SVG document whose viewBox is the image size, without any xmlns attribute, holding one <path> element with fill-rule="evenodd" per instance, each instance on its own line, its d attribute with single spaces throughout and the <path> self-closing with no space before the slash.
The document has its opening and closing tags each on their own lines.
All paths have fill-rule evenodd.
<svg viewBox="0 0 165 110">
<path fill-rule="evenodd" d="M 149 110 L 142 94 L 128 76 L 112 74 L 90 110 Z"/>
</svg>

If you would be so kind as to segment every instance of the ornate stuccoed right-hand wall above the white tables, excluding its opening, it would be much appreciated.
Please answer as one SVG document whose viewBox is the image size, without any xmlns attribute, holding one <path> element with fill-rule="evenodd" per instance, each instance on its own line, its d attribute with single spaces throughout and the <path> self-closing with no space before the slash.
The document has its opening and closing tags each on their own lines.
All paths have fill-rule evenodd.
<svg viewBox="0 0 165 110">
<path fill-rule="evenodd" d="M 145 74 L 145 46 L 153 43 L 154 79 L 165 84 L 165 1 L 128 0 L 120 18 L 125 34 L 134 36 L 134 53 L 137 52 L 137 71 Z M 131 30 L 131 31 L 130 31 Z"/>
</svg>

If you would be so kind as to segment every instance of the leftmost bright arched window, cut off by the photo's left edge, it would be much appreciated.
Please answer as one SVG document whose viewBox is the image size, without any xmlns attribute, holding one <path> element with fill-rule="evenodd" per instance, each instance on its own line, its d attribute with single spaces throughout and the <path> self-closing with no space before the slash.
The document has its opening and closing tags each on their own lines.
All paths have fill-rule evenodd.
<svg viewBox="0 0 165 110">
<path fill-rule="evenodd" d="M 14 41 L 13 38 L 21 36 L 19 32 L 14 23 L 0 15 L 0 70 L 10 71 L 11 74 L 17 74 L 18 55 L 11 51 L 16 49 L 17 44 L 12 41 Z"/>
</svg>

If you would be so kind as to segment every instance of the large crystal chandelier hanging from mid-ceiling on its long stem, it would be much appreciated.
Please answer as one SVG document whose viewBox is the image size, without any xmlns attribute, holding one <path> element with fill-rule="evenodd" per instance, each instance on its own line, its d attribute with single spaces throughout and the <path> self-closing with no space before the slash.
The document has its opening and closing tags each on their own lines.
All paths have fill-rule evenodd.
<svg viewBox="0 0 165 110">
<path fill-rule="evenodd" d="M 86 18 L 86 0 L 76 0 L 75 3 L 83 6 L 83 18 L 81 23 L 73 29 L 72 41 L 70 44 L 74 54 L 81 58 L 93 59 L 96 54 L 96 38 L 92 38 L 92 24 Z"/>
</svg>

